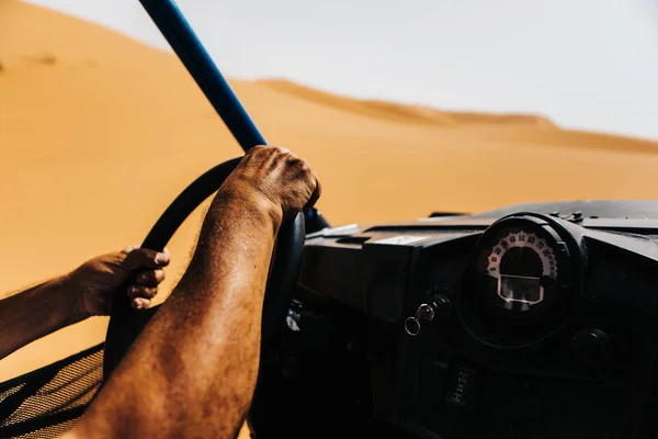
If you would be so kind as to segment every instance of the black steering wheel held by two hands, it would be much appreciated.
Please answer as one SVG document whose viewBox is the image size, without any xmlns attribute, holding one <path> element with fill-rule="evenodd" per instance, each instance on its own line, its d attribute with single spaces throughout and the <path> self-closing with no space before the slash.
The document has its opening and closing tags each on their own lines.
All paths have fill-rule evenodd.
<svg viewBox="0 0 658 439">
<path fill-rule="evenodd" d="M 151 228 L 141 247 L 162 251 L 185 218 L 219 189 L 241 159 L 241 157 L 234 158 L 216 166 L 181 192 Z M 261 349 L 268 346 L 285 320 L 287 307 L 299 275 L 304 232 L 304 215 L 302 213 L 297 214 L 294 219 L 284 222 L 279 229 L 263 301 Z M 105 338 L 103 358 L 103 378 L 105 381 L 158 308 L 159 306 L 154 306 L 137 311 L 131 307 L 131 300 L 126 294 L 116 295 Z M 236 330 L 239 330 L 239 328 L 236 328 Z"/>
</svg>

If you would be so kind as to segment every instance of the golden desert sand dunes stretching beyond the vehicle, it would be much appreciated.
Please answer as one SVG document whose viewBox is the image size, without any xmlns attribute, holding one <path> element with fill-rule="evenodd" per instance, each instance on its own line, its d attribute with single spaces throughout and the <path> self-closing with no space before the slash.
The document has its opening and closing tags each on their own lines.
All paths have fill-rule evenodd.
<svg viewBox="0 0 658 439">
<path fill-rule="evenodd" d="M 541 115 L 358 101 L 282 80 L 230 83 L 270 143 L 317 168 L 319 207 L 333 225 L 658 198 L 658 143 L 560 130 Z M 139 243 L 189 182 L 239 154 L 173 55 L 0 0 L 0 292 Z M 200 212 L 169 246 L 164 290 L 185 267 Z M 0 381 L 101 341 L 105 325 L 93 318 L 15 352 L 0 362 Z"/>
</svg>

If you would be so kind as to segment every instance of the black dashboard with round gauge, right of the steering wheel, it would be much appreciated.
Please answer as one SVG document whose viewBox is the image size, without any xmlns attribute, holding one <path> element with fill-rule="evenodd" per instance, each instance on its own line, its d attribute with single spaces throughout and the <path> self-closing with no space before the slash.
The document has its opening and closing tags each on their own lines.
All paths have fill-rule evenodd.
<svg viewBox="0 0 658 439">
<path fill-rule="evenodd" d="M 657 312 L 658 202 L 326 228 L 254 403 L 287 436 L 655 438 Z"/>
</svg>

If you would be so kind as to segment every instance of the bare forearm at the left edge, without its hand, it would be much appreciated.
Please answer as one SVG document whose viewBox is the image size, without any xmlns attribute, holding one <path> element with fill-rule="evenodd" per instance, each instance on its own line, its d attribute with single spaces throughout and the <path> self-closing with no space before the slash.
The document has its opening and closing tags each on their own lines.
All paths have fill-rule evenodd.
<svg viewBox="0 0 658 439">
<path fill-rule="evenodd" d="M 87 317 L 68 277 L 59 277 L 0 299 L 0 359 Z"/>
</svg>

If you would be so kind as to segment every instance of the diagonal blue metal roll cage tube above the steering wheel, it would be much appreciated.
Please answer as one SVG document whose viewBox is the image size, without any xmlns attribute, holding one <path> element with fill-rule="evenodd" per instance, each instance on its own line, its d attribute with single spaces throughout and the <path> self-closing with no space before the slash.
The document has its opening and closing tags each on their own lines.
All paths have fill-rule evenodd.
<svg viewBox="0 0 658 439">
<path fill-rule="evenodd" d="M 245 151 L 266 145 L 173 0 L 139 0 Z"/>
</svg>

